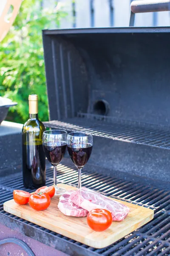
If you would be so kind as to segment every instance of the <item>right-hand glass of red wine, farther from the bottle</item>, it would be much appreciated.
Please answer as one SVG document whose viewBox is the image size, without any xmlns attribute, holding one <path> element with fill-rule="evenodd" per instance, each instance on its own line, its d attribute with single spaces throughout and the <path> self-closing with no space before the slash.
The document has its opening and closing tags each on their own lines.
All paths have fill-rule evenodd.
<svg viewBox="0 0 170 256">
<path fill-rule="evenodd" d="M 81 171 L 91 156 L 93 136 L 84 132 L 71 132 L 67 137 L 68 153 L 78 169 L 78 189 L 81 189 Z"/>
</svg>

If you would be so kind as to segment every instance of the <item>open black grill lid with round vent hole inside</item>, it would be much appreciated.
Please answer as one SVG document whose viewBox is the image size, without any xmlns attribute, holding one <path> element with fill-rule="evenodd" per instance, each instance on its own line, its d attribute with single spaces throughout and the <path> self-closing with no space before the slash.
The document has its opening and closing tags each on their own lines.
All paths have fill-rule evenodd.
<svg viewBox="0 0 170 256">
<path fill-rule="evenodd" d="M 170 125 L 170 28 L 44 30 L 50 119 Z"/>
</svg>

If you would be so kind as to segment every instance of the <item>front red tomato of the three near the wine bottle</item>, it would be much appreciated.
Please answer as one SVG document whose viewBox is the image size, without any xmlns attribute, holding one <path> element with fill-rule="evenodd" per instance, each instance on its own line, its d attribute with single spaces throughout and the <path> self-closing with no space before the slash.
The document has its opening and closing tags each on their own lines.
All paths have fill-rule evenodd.
<svg viewBox="0 0 170 256">
<path fill-rule="evenodd" d="M 45 210 L 49 207 L 51 198 L 46 193 L 32 194 L 29 198 L 29 205 L 37 211 Z"/>
</svg>

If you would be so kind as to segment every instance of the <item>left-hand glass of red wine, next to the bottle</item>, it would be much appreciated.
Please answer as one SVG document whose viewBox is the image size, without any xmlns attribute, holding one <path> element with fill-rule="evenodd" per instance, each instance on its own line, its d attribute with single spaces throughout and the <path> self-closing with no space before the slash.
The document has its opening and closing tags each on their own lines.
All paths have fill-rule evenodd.
<svg viewBox="0 0 170 256">
<path fill-rule="evenodd" d="M 63 130 L 44 131 L 42 145 L 45 156 L 54 166 L 55 195 L 62 195 L 66 189 L 57 187 L 57 165 L 61 162 L 67 148 L 67 132 Z"/>
</svg>

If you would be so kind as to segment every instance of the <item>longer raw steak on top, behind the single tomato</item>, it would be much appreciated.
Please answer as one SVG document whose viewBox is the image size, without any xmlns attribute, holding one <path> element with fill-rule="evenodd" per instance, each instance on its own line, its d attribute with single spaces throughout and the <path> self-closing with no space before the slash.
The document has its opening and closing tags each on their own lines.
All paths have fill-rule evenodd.
<svg viewBox="0 0 170 256">
<path fill-rule="evenodd" d="M 105 195 L 99 194 L 91 189 L 82 187 L 75 190 L 71 196 L 71 201 L 90 212 L 93 209 L 107 209 L 112 213 L 113 221 L 122 221 L 126 218 L 129 208 L 124 204 L 119 204 Z"/>
</svg>

